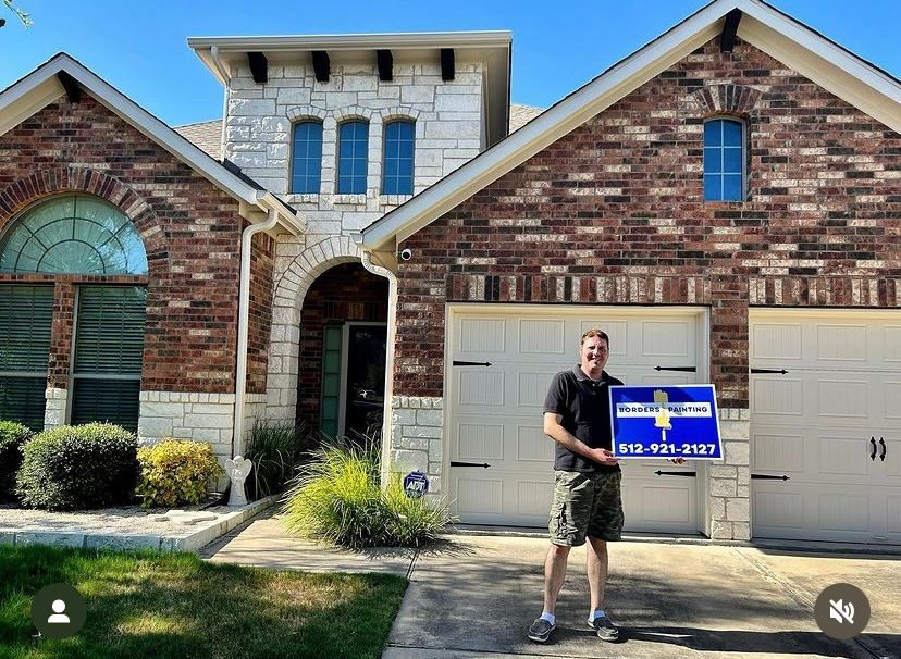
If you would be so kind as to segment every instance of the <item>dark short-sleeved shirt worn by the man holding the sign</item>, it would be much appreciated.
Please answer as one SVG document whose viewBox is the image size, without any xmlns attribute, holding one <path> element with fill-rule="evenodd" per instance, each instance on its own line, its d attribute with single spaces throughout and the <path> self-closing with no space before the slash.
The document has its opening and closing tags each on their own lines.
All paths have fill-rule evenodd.
<svg viewBox="0 0 901 659">
<path fill-rule="evenodd" d="M 560 425 L 591 448 L 613 450 L 609 387 L 621 384 L 606 371 L 598 381 L 585 375 L 579 366 L 561 371 L 547 389 L 544 411 L 563 416 Z M 573 453 L 559 442 L 554 445 L 554 469 L 557 471 L 620 471 L 618 464 L 598 464 Z"/>
</svg>

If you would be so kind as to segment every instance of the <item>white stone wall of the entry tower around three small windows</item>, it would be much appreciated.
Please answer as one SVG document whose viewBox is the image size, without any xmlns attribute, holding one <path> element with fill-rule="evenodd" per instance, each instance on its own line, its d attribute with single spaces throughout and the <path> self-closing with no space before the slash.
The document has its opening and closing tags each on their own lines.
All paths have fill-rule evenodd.
<svg viewBox="0 0 901 659">
<path fill-rule="evenodd" d="M 232 72 L 226 90 L 223 157 L 286 199 L 307 221 L 305 236 L 280 236 L 275 247 L 272 334 L 266 414 L 294 419 L 300 359 L 300 309 L 310 285 L 334 265 L 359 262 L 350 235 L 409 196 L 381 194 L 383 128 L 391 120 L 415 122 L 414 192 L 419 192 L 485 148 L 485 63 L 458 53 L 455 77 L 443 80 L 435 62 L 396 59 L 392 80 L 372 64 L 335 64 L 328 83 L 311 65 L 270 64 L 268 82 L 255 83 L 247 66 Z M 292 126 L 322 121 L 322 175 L 318 195 L 292 195 Z M 337 126 L 369 123 L 367 192 L 336 194 Z M 318 395 L 318 393 L 312 393 Z"/>
</svg>

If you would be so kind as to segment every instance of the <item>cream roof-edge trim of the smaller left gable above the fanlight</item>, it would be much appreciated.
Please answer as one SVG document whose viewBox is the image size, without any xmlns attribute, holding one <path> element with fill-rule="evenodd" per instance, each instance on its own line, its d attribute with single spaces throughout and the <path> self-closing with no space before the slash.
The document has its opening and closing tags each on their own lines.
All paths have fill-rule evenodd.
<svg viewBox="0 0 901 659">
<path fill-rule="evenodd" d="M 160 145 L 195 172 L 232 196 L 249 222 L 264 221 L 269 211 L 279 215 L 288 232 L 300 234 L 306 222 L 294 209 L 244 175 L 213 160 L 200 148 L 170 128 L 121 91 L 66 53 L 59 53 L 35 71 L 0 91 L 0 135 L 14 128 L 65 94 L 58 74 L 69 74 L 94 99 L 149 139 Z"/>
</svg>

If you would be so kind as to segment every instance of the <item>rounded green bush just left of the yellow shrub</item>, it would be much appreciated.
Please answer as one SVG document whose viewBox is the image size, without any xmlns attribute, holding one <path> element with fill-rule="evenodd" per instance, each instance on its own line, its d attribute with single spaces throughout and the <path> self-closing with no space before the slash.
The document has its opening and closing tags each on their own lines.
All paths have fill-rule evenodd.
<svg viewBox="0 0 901 659">
<path fill-rule="evenodd" d="M 16 494 L 34 508 L 103 508 L 129 501 L 137 474 L 137 439 L 128 431 L 110 423 L 63 425 L 25 444 Z"/>
</svg>

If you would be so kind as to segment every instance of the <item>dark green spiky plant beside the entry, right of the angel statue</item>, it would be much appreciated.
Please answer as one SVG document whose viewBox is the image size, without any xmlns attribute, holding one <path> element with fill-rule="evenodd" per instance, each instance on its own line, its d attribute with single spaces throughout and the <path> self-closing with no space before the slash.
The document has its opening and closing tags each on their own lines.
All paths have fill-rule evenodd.
<svg viewBox="0 0 901 659">
<path fill-rule="evenodd" d="M 305 425 L 289 421 L 262 421 L 254 424 L 244 457 L 254 461 L 246 482 L 251 500 L 285 490 L 306 453 L 319 439 Z"/>
</svg>

